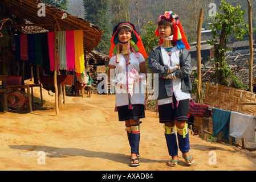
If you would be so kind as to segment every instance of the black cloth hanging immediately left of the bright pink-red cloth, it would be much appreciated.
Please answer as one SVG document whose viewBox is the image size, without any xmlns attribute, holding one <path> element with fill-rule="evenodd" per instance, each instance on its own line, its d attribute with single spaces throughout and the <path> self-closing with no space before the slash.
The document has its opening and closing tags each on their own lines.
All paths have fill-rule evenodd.
<svg viewBox="0 0 256 182">
<path fill-rule="evenodd" d="M 47 32 L 42 33 L 41 38 L 42 38 L 41 40 L 42 40 L 42 55 L 43 55 L 43 72 L 44 72 L 44 75 L 51 75 Z"/>
</svg>

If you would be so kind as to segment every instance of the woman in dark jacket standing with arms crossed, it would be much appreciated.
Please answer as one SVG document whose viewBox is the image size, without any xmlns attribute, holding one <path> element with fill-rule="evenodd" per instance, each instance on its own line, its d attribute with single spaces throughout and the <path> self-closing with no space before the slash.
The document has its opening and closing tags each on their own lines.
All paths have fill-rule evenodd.
<svg viewBox="0 0 256 182">
<path fill-rule="evenodd" d="M 192 84 L 189 75 L 190 49 L 178 15 L 165 11 L 159 16 L 159 27 L 155 35 L 160 36 L 159 46 L 152 49 L 148 65 L 151 71 L 159 74 L 157 108 L 159 122 L 164 123 L 165 140 L 169 155 L 168 166 L 177 166 L 178 147 L 185 163 L 191 165 L 194 158 L 189 153 L 188 110 Z M 177 138 L 174 131 L 176 126 Z"/>
</svg>

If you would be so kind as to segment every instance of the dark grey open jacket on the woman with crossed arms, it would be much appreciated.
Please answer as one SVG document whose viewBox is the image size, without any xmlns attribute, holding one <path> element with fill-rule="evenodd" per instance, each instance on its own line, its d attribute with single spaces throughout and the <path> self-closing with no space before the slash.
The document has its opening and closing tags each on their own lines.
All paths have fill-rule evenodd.
<svg viewBox="0 0 256 182">
<path fill-rule="evenodd" d="M 192 67 L 190 65 L 191 57 L 188 49 L 180 49 L 180 67 L 175 71 L 175 75 L 181 78 L 181 90 L 189 90 L 191 93 L 192 83 L 189 75 L 192 73 Z M 168 66 L 164 65 L 161 53 L 161 46 L 152 49 L 149 55 L 148 65 L 151 71 L 155 74 L 159 74 L 159 89 L 158 100 L 163 98 L 172 97 L 172 85 L 171 80 L 164 79 L 162 77 L 167 76 Z"/>
</svg>

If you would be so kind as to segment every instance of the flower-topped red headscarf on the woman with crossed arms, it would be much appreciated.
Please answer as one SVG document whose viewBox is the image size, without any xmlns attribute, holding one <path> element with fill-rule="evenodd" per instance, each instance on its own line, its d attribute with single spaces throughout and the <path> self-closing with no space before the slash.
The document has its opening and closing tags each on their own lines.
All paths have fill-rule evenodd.
<svg viewBox="0 0 256 182">
<path fill-rule="evenodd" d="M 172 11 L 165 11 L 165 13 L 163 15 L 159 16 L 159 20 L 162 20 L 162 19 L 167 19 L 173 23 L 173 43 L 174 43 L 174 45 L 177 46 L 179 49 L 186 48 L 189 50 L 190 46 L 189 46 L 188 40 L 186 39 L 184 30 L 181 26 L 181 22 L 178 19 L 178 15 L 173 13 Z M 157 27 L 155 35 L 160 36 L 159 35 L 159 27 Z M 161 38 L 160 38 L 159 44 L 162 44 Z"/>
</svg>

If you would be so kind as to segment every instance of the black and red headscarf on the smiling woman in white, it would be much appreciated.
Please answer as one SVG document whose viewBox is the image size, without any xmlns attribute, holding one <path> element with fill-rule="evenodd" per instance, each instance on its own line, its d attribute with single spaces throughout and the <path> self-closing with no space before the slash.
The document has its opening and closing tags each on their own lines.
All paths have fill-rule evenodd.
<svg viewBox="0 0 256 182">
<path fill-rule="evenodd" d="M 131 44 L 132 51 L 135 53 L 136 57 L 140 56 L 139 52 L 143 55 L 144 58 L 148 57 L 140 36 L 137 34 L 134 25 L 129 22 L 121 22 L 114 28 L 113 36 L 111 39 L 111 47 L 110 47 L 110 51 L 109 51 L 109 57 L 112 57 L 113 55 L 117 55 L 119 53 L 119 43 L 120 42 L 118 39 L 117 31 L 119 30 L 119 28 L 121 28 L 123 26 L 128 27 L 132 30 L 132 39 L 131 39 L 130 44 Z M 117 63 L 118 62 L 119 61 L 117 60 Z"/>
</svg>

